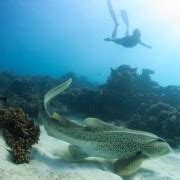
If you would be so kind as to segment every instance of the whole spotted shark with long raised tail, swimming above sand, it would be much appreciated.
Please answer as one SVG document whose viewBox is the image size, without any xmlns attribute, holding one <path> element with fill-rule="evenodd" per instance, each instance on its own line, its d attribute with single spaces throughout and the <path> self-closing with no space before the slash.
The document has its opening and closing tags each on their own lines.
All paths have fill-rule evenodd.
<svg viewBox="0 0 180 180">
<path fill-rule="evenodd" d="M 144 160 L 164 156 L 169 144 L 155 134 L 114 126 L 97 118 L 86 118 L 78 124 L 54 112 L 47 104 L 64 92 L 72 79 L 51 89 L 44 97 L 39 117 L 49 136 L 68 142 L 74 159 L 102 157 L 114 160 L 114 171 L 121 177 L 135 173 Z M 93 106 L 93 104 L 92 104 Z"/>
</svg>

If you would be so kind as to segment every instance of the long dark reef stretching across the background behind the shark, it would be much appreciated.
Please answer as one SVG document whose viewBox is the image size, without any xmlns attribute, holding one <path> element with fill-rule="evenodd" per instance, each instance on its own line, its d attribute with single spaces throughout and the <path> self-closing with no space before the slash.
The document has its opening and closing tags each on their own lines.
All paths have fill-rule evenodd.
<svg viewBox="0 0 180 180">
<path fill-rule="evenodd" d="M 71 88 L 50 104 L 51 112 L 122 122 L 132 129 L 153 132 L 172 145 L 180 144 L 180 86 L 162 87 L 151 79 L 153 74 L 150 69 L 139 74 L 137 68 L 122 65 L 111 68 L 107 82 L 97 86 L 72 72 L 57 79 L 0 73 L 0 92 L 8 96 L 6 107 L 20 107 L 37 118 L 44 94 L 71 77 Z"/>
</svg>

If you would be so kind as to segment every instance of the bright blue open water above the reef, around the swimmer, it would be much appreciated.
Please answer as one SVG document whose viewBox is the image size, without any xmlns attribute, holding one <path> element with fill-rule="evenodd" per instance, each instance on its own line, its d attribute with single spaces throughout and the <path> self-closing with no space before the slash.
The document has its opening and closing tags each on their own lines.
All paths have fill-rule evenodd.
<svg viewBox="0 0 180 180">
<path fill-rule="evenodd" d="M 105 0 L 1 0 L 0 70 L 51 76 L 74 71 L 103 82 L 110 67 L 128 64 L 139 71 L 153 69 L 153 79 L 161 85 L 179 85 L 180 14 L 156 0 L 112 3 L 120 22 L 119 37 L 125 31 L 119 10 L 125 8 L 131 32 L 138 27 L 151 50 L 126 49 L 103 40 L 113 30 Z"/>
</svg>

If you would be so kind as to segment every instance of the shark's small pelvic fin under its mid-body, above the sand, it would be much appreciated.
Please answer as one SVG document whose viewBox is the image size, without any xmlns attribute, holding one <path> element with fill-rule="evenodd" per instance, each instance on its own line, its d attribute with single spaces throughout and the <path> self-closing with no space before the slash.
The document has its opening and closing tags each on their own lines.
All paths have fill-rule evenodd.
<svg viewBox="0 0 180 180">
<path fill-rule="evenodd" d="M 69 149 L 73 159 L 81 160 L 81 159 L 88 157 L 88 155 L 86 153 L 84 153 L 79 146 L 69 145 L 68 149 Z"/>
</svg>

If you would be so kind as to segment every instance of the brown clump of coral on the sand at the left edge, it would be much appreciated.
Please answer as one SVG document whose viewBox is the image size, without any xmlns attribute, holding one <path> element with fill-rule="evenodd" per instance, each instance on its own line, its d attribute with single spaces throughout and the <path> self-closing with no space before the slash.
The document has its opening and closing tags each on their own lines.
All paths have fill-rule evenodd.
<svg viewBox="0 0 180 180">
<path fill-rule="evenodd" d="M 3 137 L 12 160 L 16 164 L 27 163 L 30 160 L 30 148 L 37 143 L 40 136 L 39 126 L 19 108 L 0 109 L 0 127 L 4 129 Z"/>
</svg>

